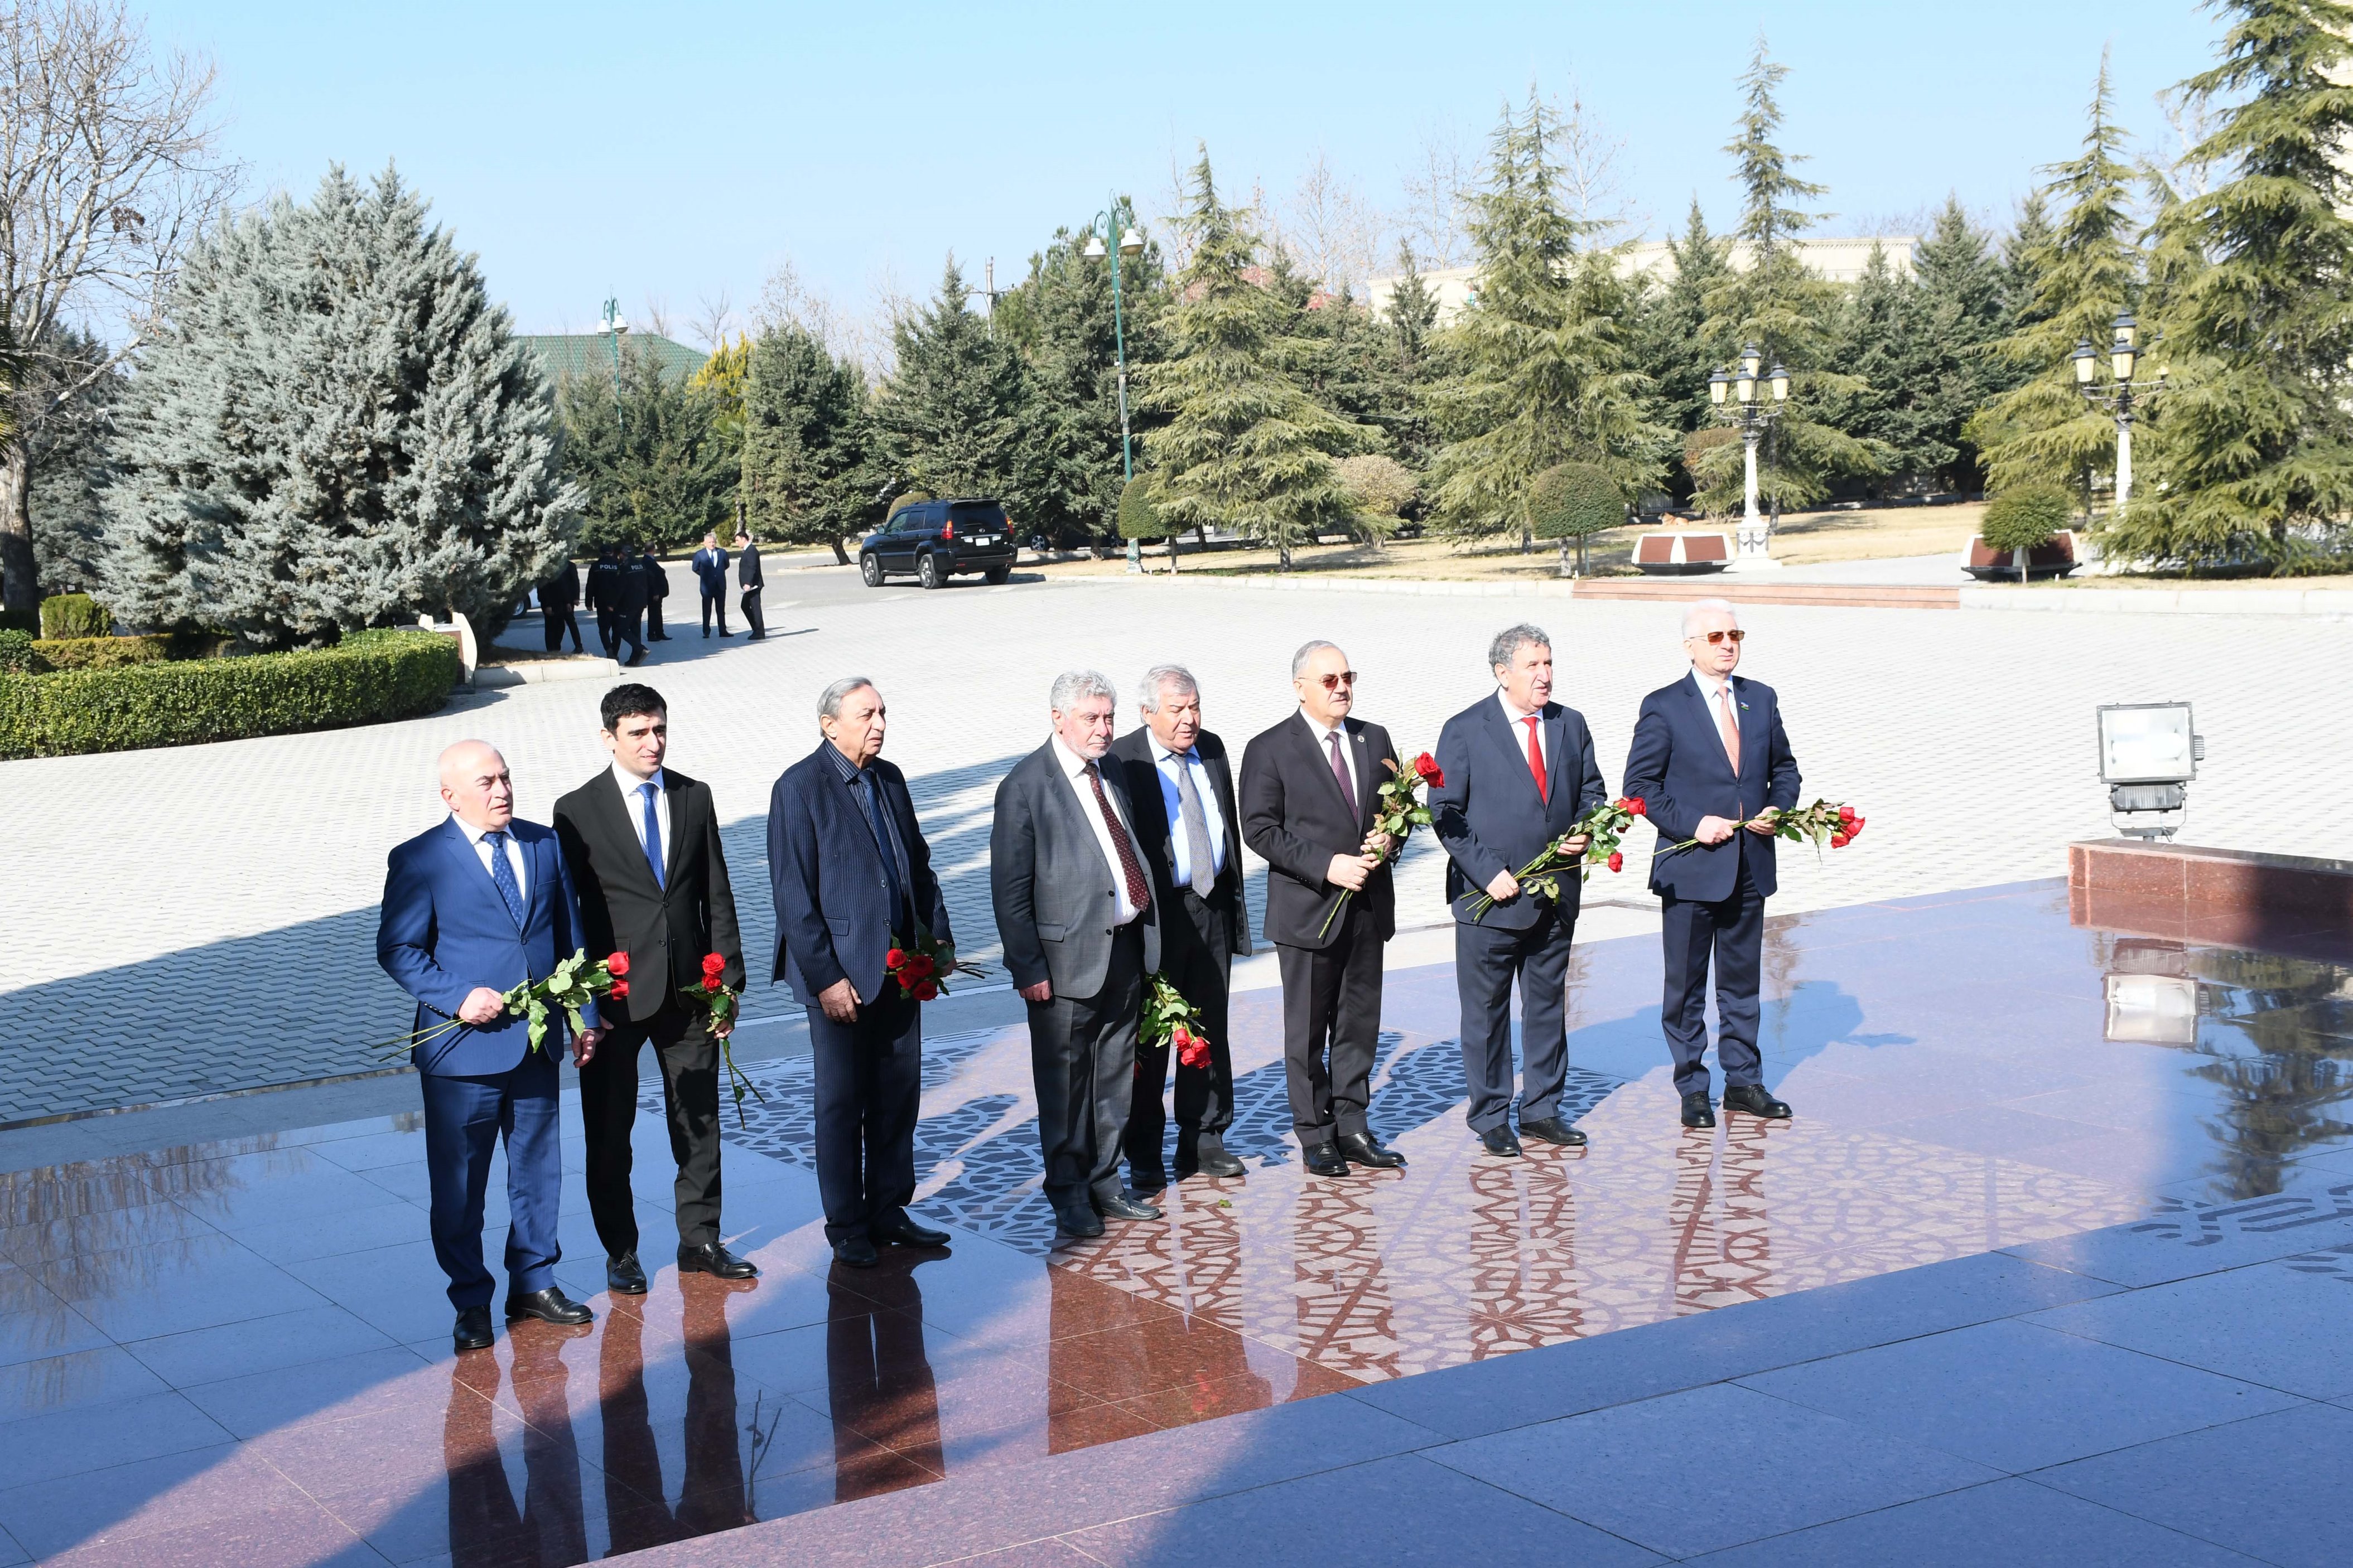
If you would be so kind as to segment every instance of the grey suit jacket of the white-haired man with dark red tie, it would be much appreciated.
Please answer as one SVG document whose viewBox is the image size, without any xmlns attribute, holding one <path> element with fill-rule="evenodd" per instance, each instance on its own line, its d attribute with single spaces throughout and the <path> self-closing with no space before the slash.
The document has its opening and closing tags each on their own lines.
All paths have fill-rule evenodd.
<svg viewBox="0 0 2353 1568">
<path fill-rule="evenodd" d="M 1136 837 L 1136 813 L 1120 764 L 1104 757 L 1104 792 Z M 1141 858 L 1141 851 L 1139 851 Z M 1115 872 L 1094 825 L 1061 771 L 1054 743 L 1014 764 L 998 783 L 998 816 L 988 830 L 988 893 L 1014 985 L 1052 980 L 1056 997 L 1092 997 L 1111 971 L 1111 926 L 1120 912 Z M 1151 879 L 1146 877 L 1146 886 Z M 1144 971 L 1160 969 L 1160 910 L 1146 907 Z"/>
</svg>

